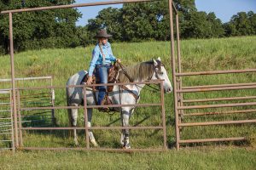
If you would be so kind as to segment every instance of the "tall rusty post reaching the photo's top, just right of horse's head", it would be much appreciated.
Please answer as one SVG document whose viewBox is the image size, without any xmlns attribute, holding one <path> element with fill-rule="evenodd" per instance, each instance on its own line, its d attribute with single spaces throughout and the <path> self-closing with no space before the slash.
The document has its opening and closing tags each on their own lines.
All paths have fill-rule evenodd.
<svg viewBox="0 0 256 170">
<path fill-rule="evenodd" d="M 177 77 L 176 77 L 176 63 L 174 53 L 174 34 L 173 34 L 173 16 L 172 16 L 172 0 L 169 0 L 169 14 L 170 14 L 170 29 L 171 29 L 171 54 L 172 54 L 172 81 L 173 81 L 173 95 L 174 95 L 174 110 L 175 110 L 175 133 L 176 133 L 176 148 L 179 150 L 179 128 L 178 128 L 178 112 L 177 112 Z"/>
</svg>

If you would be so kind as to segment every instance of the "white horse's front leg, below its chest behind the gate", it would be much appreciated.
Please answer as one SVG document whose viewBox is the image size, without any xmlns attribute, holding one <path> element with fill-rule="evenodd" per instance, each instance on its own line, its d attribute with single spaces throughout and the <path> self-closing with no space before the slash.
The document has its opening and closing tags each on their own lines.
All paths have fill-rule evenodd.
<svg viewBox="0 0 256 170">
<path fill-rule="evenodd" d="M 129 109 L 122 109 L 121 111 L 121 121 L 123 127 L 129 126 L 129 118 L 131 116 L 131 111 Z M 130 149 L 131 144 L 129 142 L 129 129 L 123 129 L 121 134 L 121 144 L 123 145 L 124 149 Z"/>
</svg>

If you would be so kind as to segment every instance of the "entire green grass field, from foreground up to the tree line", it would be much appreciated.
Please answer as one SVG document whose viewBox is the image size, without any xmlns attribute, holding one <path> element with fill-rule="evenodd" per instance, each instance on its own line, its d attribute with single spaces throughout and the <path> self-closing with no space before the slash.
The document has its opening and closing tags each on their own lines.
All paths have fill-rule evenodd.
<svg viewBox="0 0 256 170">
<path fill-rule="evenodd" d="M 170 42 L 113 43 L 113 54 L 122 59 L 124 65 L 161 57 L 166 64 L 169 77 Z M 232 69 L 256 68 L 256 37 L 232 37 L 208 40 L 186 40 L 181 42 L 182 70 L 221 71 Z M 54 85 L 65 86 L 68 77 L 75 72 L 87 69 L 93 46 L 73 49 L 42 49 L 15 54 L 15 77 L 54 77 Z M 0 57 L 1 78 L 10 78 L 9 56 Z M 226 74 L 183 78 L 183 86 L 229 84 L 256 82 L 255 73 Z M 45 82 L 20 82 L 20 86 L 43 86 Z M 0 84 L 0 88 L 9 88 L 10 84 Z M 31 93 L 31 92 L 24 92 Z M 152 97 L 154 96 L 154 97 Z M 141 103 L 159 101 L 158 94 L 143 91 Z M 204 99 L 231 96 L 256 96 L 256 90 L 236 90 L 210 93 L 185 94 L 184 99 Z M 168 146 L 171 150 L 163 153 L 109 153 L 86 151 L 18 151 L 2 152 L 0 168 L 3 169 L 255 169 L 255 124 L 240 126 L 186 127 L 182 139 L 247 137 L 246 142 L 218 144 L 188 144 L 181 151 L 175 151 L 174 113 L 172 94 L 165 95 L 166 126 Z M 255 99 L 247 100 L 254 101 Z M 234 101 L 208 102 L 207 104 L 225 104 Z M 239 102 L 245 102 L 241 100 Z M 55 105 L 66 105 L 64 89 L 55 90 Z M 226 109 L 191 110 L 186 113 L 202 111 L 230 111 L 255 109 L 255 106 L 243 106 Z M 26 113 L 22 113 L 26 114 Z M 83 110 L 79 111 L 79 126 L 83 126 Z M 67 111 L 55 111 L 57 126 L 67 127 Z M 256 114 L 224 114 L 222 116 L 188 117 L 184 122 L 210 122 L 223 120 L 255 119 Z M 95 111 L 92 126 L 119 126 L 119 113 L 112 116 Z M 159 108 L 137 108 L 131 117 L 131 125 L 159 125 Z M 119 130 L 96 130 L 96 140 L 101 147 L 119 148 Z M 67 131 L 38 132 L 26 131 L 24 144 L 29 147 L 75 147 Z M 158 130 L 131 131 L 132 148 L 159 148 L 162 145 L 162 132 Z M 79 131 L 79 143 L 84 147 L 84 132 Z M 192 146 L 192 147 L 191 147 Z M 197 147 L 200 146 L 200 147 Z M 102 161 L 101 161 L 102 160 Z M 18 167 L 20 166 L 20 167 Z"/>
</svg>

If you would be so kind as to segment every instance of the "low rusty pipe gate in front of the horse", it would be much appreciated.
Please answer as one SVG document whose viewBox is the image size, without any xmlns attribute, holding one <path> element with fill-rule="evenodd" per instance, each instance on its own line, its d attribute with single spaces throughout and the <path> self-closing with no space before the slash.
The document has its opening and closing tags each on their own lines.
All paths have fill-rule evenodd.
<svg viewBox="0 0 256 170">
<path fill-rule="evenodd" d="M 126 107 L 126 106 L 134 106 L 134 107 L 148 107 L 148 106 L 160 106 L 161 108 L 161 122 L 160 122 L 160 126 L 139 126 L 139 127 L 102 127 L 102 126 L 97 126 L 97 127 L 89 127 L 88 126 L 88 117 L 87 117 L 87 109 L 89 108 L 99 108 L 102 107 L 102 105 L 87 105 L 86 101 L 86 91 L 88 90 L 88 87 L 93 87 L 93 86 L 109 86 L 114 84 L 115 86 L 122 86 L 124 84 L 129 85 L 129 84 L 160 84 L 160 103 L 156 103 L 156 104 L 136 104 L 136 105 L 106 105 L 108 107 Z M 21 124 L 19 122 L 15 122 L 18 123 L 18 129 L 19 129 L 19 141 L 20 141 L 20 147 L 22 147 L 23 150 L 49 150 L 49 148 L 45 148 L 45 147 L 24 147 L 23 145 L 23 139 L 22 139 L 22 132 L 24 130 L 40 130 L 40 131 L 44 131 L 44 130 L 73 130 L 73 129 L 77 129 L 77 130 L 84 130 L 85 133 L 85 148 L 83 148 L 83 150 L 118 150 L 118 149 L 108 149 L 108 148 L 90 148 L 90 140 L 89 140 L 89 130 L 122 130 L 122 129 L 151 129 L 151 130 L 162 130 L 163 131 L 163 146 L 162 148 L 148 148 L 148 149 L 131 149 L 130 151 L 143 151 L 143 150 L 147 150 L 147 151 L 157 151 L 157 150 L 166 150 L 167 149 L 167 139 L 166 139 L 166 115 L 165 115 L 165 105 L 164 105 L 164 88 L 163 88 L 163 80 L 156 80 L 156 81 L 147 81 L 147 82 L 120 82 L 120 83 L 107 83 L 107 84 L 92 84 L 92 85 L 73 85 L 73 86 L 66 86 L 66 87 L 41 87 L 41 88 L 83 88 L 83 94 L 84 94 L 84 105 L 80 105 L 80 106 L 51 106 L 51 107 L 23 107 L 22 105 L 20 105 L 19 109 L 18 109 L 18 113 L 19 113 L 19 120 L 20 117 L 22 117 L 22 115 L 20 115 L 20 111 L 28 111 L 28 110 L 46 110 L 46 109 L 54 109 L 54 110 L 58 110 L 58 109 L 84 109 L 84 127 L 22 127 Z M 17 94 L 20 93 L 20 91 L 24 91 L 24 90 L 37 90 L 37 89 L 41 89 L 41 88 L 17 88 Z M 89 88 L 90 89 L 90 88 Z M 19 95 L 17 95 L 19 96 Z M 18 99 L 19 100 L 19 99 Z M 104 105 L 103 105 L 104 106 Z M 53 150 L 58 150 L 58 148 L 55 148 Z M 59 150 L 72 150 L 72 148 L 59 148 Z M 73 148 L 73 150 L 78 150 L 78 148 Z"/>
</svg>

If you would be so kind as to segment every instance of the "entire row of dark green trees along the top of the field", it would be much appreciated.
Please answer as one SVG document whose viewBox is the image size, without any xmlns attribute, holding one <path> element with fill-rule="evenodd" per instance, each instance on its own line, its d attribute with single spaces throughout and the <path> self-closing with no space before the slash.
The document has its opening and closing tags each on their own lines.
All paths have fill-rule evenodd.
<svg viewBox="0 0 256 170">
<path fill-rule="evenodd" d="M 74 0 L 2 0 L 0 10 L 75 3 Z M 179 13 L 180 37 L 212 38 L 256 35 L 256 14 L 240 12 L 222 23 L 214 13 L 198 11 L 195 0 L 174 0 Z M 113 42 L 170 40 L 168 0 L 126 3 L 104 8 L 86 26 L 76 26 L 82 14 L 76 8 L 13 15 L 15 51 L 39 48 L 75 48 L 95 43 L 96 31 L 106 28 Z M 0 15 L 0 54 L 9 52 L 9 16 Z"/>
</svg>

